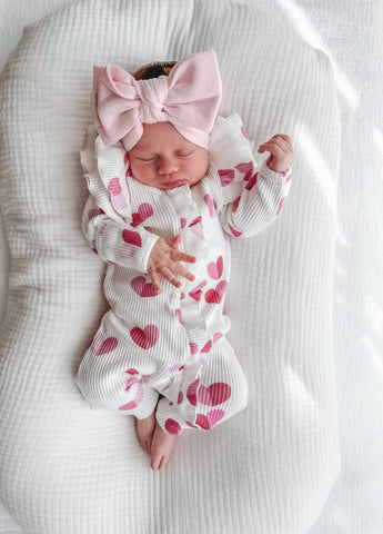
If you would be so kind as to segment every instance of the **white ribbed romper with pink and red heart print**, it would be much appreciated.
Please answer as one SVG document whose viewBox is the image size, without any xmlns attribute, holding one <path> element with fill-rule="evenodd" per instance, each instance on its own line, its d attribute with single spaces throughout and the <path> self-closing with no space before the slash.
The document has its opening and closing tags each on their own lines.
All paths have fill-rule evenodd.
<svg viewBox="0 0 383 534">
<path fill-rule="evenodd" d="M 249 237 L 280 214 L 291 170 L 256 171 L 236 113 L 219 117 L 206 176 L 162 190 L 135 180 L 120 146 L 90 130 L 81 161 L 90 197 L 83 230 L 107 261 L 103 316 L 75 383 L 91 406 L 148 417 L 171 434 L 210 429 L 246 405 L 248 384 L 225 334 L 230 237 Z M 155 295 L 147 264 L 159 237 L 182 236 L 194 281 L 161 280 Z M 159 402 L 159 394 L 162 395 Z"/>
</svg>

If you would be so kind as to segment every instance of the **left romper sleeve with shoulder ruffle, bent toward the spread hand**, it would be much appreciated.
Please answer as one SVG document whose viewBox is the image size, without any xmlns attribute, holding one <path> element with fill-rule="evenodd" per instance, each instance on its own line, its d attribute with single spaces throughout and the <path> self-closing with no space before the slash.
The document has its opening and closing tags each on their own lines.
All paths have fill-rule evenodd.
<svg viewBox="0 0 383 534">
<path fill-rule="evenodd" d="M 82 215 L 82 230 L 90 247 L 107 263 L 147 273 L 159 237 L 142 226 L 132 226 L 124 149 L 105 147 L 90 128 L 81 165 L 90 191 Z"/>
</svg>

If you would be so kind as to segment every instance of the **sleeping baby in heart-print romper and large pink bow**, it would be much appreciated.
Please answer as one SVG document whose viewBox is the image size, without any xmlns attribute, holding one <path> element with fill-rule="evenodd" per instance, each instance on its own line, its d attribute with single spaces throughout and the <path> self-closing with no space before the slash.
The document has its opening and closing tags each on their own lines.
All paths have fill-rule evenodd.
<svg viewBox="0 0 383 534">
<path fill-rule="evenodd" d="M 133 76 L 95 67 L 94 91 L 82 226 L 108 264 L 110 309 L 75 383 L 92 407 L 135 417 L 161 469 L 183 431 L 210 431 L 246 406 L 223 313 L 230 240 L 279 217 L 293 150 L 273 136 L 259 147 L 270 156 L 258 171 L 240 117 L 216 116 L 213 51 Z"/>
</svg>

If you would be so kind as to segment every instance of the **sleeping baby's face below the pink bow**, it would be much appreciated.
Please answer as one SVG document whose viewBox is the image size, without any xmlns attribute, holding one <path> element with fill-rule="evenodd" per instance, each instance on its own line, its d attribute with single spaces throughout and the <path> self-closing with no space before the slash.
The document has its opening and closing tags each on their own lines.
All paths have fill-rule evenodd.
<svg viewBox="0 0 383 534">
<path fill-rule="evenodd" d="M 173 189 L 192 186 L 206 174 L 209 154 L 182 137 L 170 122 L 143 125 L 143 135 L 129 150 L 134 178 L 147 186 Z"/>
</svg>

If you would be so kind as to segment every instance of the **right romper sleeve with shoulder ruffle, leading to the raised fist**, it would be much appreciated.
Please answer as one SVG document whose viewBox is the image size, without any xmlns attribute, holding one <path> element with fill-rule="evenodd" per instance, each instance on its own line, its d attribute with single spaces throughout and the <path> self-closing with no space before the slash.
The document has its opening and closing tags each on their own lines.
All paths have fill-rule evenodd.
<svg viewBox="0 0 383 534">
<path fill-rule="evenodd" d="M 280 215 L 290 190 L 291 168 L 280 174 L 263 162 L 258 169 L 239 115 L 219 119 L 210 146 L 211 174 L 220 189 L 215 191 L 218 214 L 230 236 L 250 237 Z"/>
</svg>

